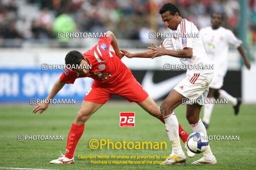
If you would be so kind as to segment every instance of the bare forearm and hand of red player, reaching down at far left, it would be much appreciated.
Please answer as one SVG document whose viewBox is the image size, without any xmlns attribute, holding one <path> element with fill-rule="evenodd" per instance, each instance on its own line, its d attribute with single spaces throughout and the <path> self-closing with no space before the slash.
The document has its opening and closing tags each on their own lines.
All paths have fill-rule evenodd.
<svg viewBox="0 0 256 170">
<path fill-rule="evenodd" d="M 49 95 L 46 97 L 46 99 L 52 99 L 58 92 L 61 90 L 61 88 L 65 85 L 65 82 L 62 82 L 60 79 L 58 79 L 55 84 L 52 87 L 51 92 Z M 33 109 L 33 113 L 35 114 L 37 111 L 40 111 L 40 114 L 44 112 L 48 108 L 49 102 L 48 103 L 37 103 L 36 107 Z"/>
</svg>

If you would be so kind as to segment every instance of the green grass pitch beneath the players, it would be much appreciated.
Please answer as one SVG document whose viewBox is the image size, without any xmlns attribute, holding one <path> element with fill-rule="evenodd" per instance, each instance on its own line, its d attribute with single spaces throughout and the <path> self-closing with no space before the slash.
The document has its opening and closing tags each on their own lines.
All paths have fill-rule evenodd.
<svg viewBox="0 0 256 170">
<path fill-rule="evenodd" d="M 256 167 L 256 127 L 254 125 L 256 105 L 241 105 L 240 113 L 237 116 L 233 114 L 230 104 L 214 106 L 211 124 L 207 131 L 208 135 L 239 135 L 239 140 L 211 140 L 209 142 L 212 152 L 217 158 L 216 165 L 191 164 L 192 161 L 202 156 L 202 154 L 197 154 L 193 158 L 187 156 L 185 164 L 175 164 L 172 167 L 160 166 L 159 164 L 91 164 L 90 159 L 78 159 L 78 155 L 169 155 L 171 143 L 168 141 L 165 125 L 145 112 L 136 103 L 107 102 L 95 112 L 86 122 L 84 133 L 77 145 L 74 164 L 50 164 L 49 161 L 59 156 L 59 149 L 63 153 L 65 152 L 67 134 L 80 105 L 50 105 L 42 115 L 39 113 L 34 115 L 31 105 L 1 105 L 0 107 L 1 168 L 254 169 Z M 186 107 L 181 105 L 176 108 L 175 113 L 185 130 L 192 133 L 185 117 L 185 109 Z M 119 127 L 120 111 L 134 111 L 136 113 L 136 126 Z M 64 140 L 18 141 L 17 136 L 19 134 L 64 135 Z M 118 150 L 103 148 L 93 150 L 88 146 L 89 140 L 93 138 L 108 138 L 111 141 L 166 141 L 168 149 Z M 184 149 L 183 144 L 182 147 Z M 154 161 L 154 159 L 147 160 Z"/>
</svg>

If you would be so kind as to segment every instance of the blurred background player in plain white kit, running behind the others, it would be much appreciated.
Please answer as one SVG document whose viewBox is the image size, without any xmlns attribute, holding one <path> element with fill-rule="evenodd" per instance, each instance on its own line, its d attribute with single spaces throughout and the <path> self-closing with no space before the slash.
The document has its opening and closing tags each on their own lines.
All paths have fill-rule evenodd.
<svg viewBox="0 0 256 170">
<path fill-rule="evenodd" d="M 250 62 L 244 54 L 241 46 L 242 41 L 235 37 L 233 32 L 221 26 L 223 21 L 223 14 L 215 12 L 211 16 L 211 26 L 207 26 L 200 30 L 204 47 L 207 55 L 211 58 L 214 64 L 214 76 L 209 85 L 208 98 L 222 98 L 227 99 L 233 105 L 235 115 L 239 112 L 241 100 L 228 94 L 225 90 L 220 89 L 223 85 L 223 79 L 227 71 L 227 52 L 228 45 L 231 44 L 240 52 L 244 63 L 250 69 Z M 210 117 L 213 110 L 213 103 L 205 104 L 203 123 L 208 128 Z"/>
</svg>

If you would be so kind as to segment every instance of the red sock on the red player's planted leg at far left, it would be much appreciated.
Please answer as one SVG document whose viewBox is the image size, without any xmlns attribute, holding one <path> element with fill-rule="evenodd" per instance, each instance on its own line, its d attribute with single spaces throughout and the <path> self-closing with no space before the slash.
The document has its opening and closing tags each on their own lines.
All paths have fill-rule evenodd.
<svg viewBox="0 0 256 170">
<path fill-rule="evenodd" d="M 84 124 L 83 125 L 76 125 L 72 124 L 71 129 L 68 133 L 68 140 L 67 140 L 67 147 L 66 147 L 66 154 L 65 156 L 71 159 L 74 156 L 74 152 L 76 149 L 76 144 L 80 139 L 81 135 L 83 134 Z"/>
</svg>

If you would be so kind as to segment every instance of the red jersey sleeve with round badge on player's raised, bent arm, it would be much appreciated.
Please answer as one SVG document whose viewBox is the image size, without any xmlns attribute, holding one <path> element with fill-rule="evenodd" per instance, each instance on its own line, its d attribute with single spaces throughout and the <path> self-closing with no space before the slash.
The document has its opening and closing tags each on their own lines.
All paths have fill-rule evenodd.
<svg viewBox="0 0 256 170">
<path fill-rule="evenodd" d="M 111 44 L 111 38 L 107 36 L 101 36 L 96 46 L 97 55 L 103 60 L 109 57 L 109 47 Z"/>
</svg>

